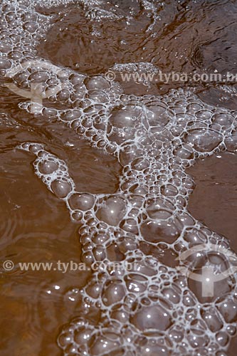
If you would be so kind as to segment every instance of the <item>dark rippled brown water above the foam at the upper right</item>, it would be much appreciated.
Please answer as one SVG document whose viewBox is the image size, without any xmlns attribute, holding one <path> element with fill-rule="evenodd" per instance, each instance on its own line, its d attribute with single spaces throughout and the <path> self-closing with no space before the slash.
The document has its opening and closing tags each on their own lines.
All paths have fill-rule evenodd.
<svg viewBox="0 0 237 356">
<path fill-rule="evenodd" d="M 114 4 L 122 14 L 130 9 L 131 19 L 105 19 L 91 25 L 82 12 L 72 9 L 51 28 L 38 53 L 53 63 L 88 74 L 104 73 L 115 63 L 136 62 L 152 63 L 163 73 L 236 73 L 235 1 L 167 1 L 157 4 L 155 15 L 144 11 L 139 1 Z M 152 31 L 144 36 L 149 26 Z M 148 90 L 141 85 L 130 88 L 127 83 L 122 84 L 131 94 L 166 93 L 183 85 L 177 80 L 168 85 L 160 83 L 158 88 L 152 85 Z M 232 84 L 235 90 L 236 83 Z M 228 94 L 224 95 L 221 88 L 210 98 L 209 90 L 216 88 L 215 82 L 210 88 L 209 83 L 194 83 L 194 87 L 207 103 L 227 105 L 234 110 L 234 105 L 228 103 L 232 98 L 226 100 Z"/>
</svg>

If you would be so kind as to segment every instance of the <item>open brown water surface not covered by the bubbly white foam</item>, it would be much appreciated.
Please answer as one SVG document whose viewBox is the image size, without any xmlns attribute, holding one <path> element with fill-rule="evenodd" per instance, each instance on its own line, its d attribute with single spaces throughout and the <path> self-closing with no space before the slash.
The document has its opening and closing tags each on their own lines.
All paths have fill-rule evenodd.
<svg viewBox="0 0 237 356">
<path fill-rule="evenodd" d="M 11 4 L 11 1 L 4 4 L 8 2 Z M 53 16 L 53 26 L 38 44 L 38 56 L 88 75 L 105 73 L 115 63 L 138 62 L 152 63 L 164 73 L 171 70 L 236 73 L 236 1 L 163 1 L 161 6 L 154 1 L 155 11 L 146 9 L 138 0 L 110 2 L 115 6 L 115 14 L 121 16 L 118 19 L 96 21 L 85 16 L 83 6 L 73 4 L 50 9 L 39 7 L 40 14 Z M 110 9 L 110 4 L 104 4 L 102 9 Z M 125 18 L 128 15 L 129 18 Z M 4 84 L 6 78 L 0 78 Z M 120 78 L 118 81 L 125 94 L 137 96 L 163 95 L 172 88 L 189 84 L 204 103 L 236 110 L 234 83 L 143 85 L 132 81 L 124 83 Z M 17 78 L 16 83 L 23 87 Z M 63 159 L 78 192 L 115 194 L 122 164 L 116 157 L 91 147 L 56 117 L 41 115 L 38 120 L 37 115 L 21 110 L 18 104 L 24 100 L 2 86 L 0 261 L 11 260 L 15 265 L 22 261 L 80 263 L 78 229 L 81 223 L 70 220 L 64 202 L 36 177 L 32 168 L 34 155 L 16 150 L 16 146 L 23 142 L 43 143 L 48 152 Z M 45 106 L 58 110 L 68 105 L 65 98 L 44 101 Z M 231 248 L 237 251 L 236 148 L 197 159 L 194 167 L 186 172 L 196 182 L 189 199 L 191 215 L 211 231 L 226 236 Z M 114 254 L 120 260 L 120 251 L 116 248 Z M 73 300 L 70 290 L 85 286 L 91 271 L 23 272 L 14 268 L 9 272 L 1 269 L 0 276 L 0 354 L 69 355 L 61 353 L 57 337 L 65 323 L 81 315 L 81 305 L 77 298 Z M 95 315 L 91 318 L 96 320 Z M 236 345 L 233 338 L 226 355 L 235 355 Z M 157 352 L 156 355 L 163 355 Z M 73 352 L 70 355 L 74 355 Z M 109 352 L 107 355 L 125 354 Z"/>
</svg>

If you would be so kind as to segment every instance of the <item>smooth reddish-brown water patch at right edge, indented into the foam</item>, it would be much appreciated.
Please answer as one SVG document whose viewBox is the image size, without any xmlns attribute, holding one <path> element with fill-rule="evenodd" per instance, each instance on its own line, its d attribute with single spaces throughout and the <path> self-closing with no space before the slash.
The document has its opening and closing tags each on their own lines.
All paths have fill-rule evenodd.
<svg viewBox="0 0 237 356">
<path fill-rule="evenodd" d="M 226 236 L 236 250 L 236 155 L 221 153 L 201 159 L 189 174 L 196 182 L 189 211 L 210 229 Z"/>
</svg>

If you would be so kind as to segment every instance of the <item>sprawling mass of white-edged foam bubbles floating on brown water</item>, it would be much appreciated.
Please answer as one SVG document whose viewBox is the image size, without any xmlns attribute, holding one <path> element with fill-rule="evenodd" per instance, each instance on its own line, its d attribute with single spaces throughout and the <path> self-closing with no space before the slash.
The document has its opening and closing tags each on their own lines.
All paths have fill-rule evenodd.
<svg viewBox="0 0 237 356">
<path fill-rule="evenodd" d="M 63 160 L 41 143 L 19 145 L 36 155 L 36 175 L 80 224 L 82 261 L 88 268 L 98 263 L 84 288 L 67 293 L 81 311 L 58 335 L 63 355 L 226 355 L 236 334 L 236 279 L 234 273 L 216 276 L 233 268 L 236 254 L 226 238 L 189 214 L 195 184 L 185 171 L 200 157 L 237 150 L 236 112 L 206 105 L 182 88 L 125 95 L 106 75 L 54 66 L 36 51 L 53 16 L 37 12 L 40 1 L 8 2 L 1 4 L 0 74 L 23 90 L 41 84 L 48 100 L 24 101 L 21 108 L 32 113 L 34 105 L 37 120 L 68 125 L 78 140 L 121 165 L 115 194 L 78 192 Z M 46 5 L 64 3 L 72 1 Z M 103 2 L 87 6 L 96 8 L 98 20 Z M 203 271 L 212 272 L 213 293 L 201 288 Z"/>
</svg>

